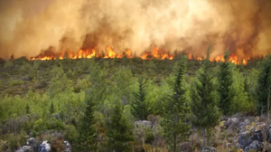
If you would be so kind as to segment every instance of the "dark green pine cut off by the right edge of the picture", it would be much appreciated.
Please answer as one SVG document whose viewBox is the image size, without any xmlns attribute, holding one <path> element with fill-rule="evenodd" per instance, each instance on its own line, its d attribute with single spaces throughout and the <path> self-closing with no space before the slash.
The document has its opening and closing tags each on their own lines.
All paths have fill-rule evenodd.
<svg viewBox="0 0 271 152">
<path fill-rule="evenodd" d="M 258 114 L 266 114 L 270 103 L 271 88 L 271 55 L 267 55 L 261 62 L 259 77 L 257 80 L 257 112 Z"/>
</svg>

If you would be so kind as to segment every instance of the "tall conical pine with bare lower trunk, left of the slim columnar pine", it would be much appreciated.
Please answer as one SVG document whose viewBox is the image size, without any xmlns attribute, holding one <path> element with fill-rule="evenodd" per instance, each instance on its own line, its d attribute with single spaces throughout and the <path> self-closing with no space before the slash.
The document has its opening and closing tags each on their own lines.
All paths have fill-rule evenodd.
<svg viewBox="0 0 271 152">
<path fill-rule="evenodd" d="M 207 49 L 207 57 L 202 61 L 196 81 L 192 85 L 192 123 L 198 128 L 203 128 L 203 147 L 205 147 L 205 130 L 216 126 L 220 119 L 217 108 L 217 95 L 213 82 L 210 64 L 210 49 Z"/>
</svg>

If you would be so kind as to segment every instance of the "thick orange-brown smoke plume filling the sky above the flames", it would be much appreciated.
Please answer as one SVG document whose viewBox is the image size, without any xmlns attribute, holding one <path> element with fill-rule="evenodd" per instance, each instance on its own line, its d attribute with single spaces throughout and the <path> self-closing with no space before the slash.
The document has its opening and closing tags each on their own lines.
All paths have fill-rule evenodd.
<svg viewBox="0 0 271 152">
<path fill-rule="evenodd" d="M 270 0 L 0 0 L 0 57 L 156 45 L 201 56 L 271 51 Z M 50 52 L 51 52 L 50 51 Z"/>
</svg>

